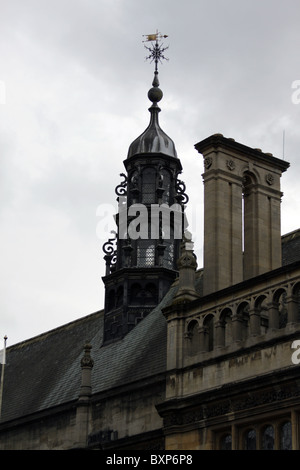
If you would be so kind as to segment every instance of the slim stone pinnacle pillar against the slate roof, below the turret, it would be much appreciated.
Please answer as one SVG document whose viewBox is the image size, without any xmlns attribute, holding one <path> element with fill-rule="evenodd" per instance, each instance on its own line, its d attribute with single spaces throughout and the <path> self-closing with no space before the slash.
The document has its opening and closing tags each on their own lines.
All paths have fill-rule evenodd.
<svg viewBox="0 0 300 470">
<path fill-rule="evenodd" d="M 87 446 L 90 397 L 92 394 L 91 373 L 94 365 L 90 355 L 91 349 L 92 346 L 86 344 L 84 356 L 81 359 L 81 386 L 76 409 L 75 448 L 85 448 Z"/>
</svg>

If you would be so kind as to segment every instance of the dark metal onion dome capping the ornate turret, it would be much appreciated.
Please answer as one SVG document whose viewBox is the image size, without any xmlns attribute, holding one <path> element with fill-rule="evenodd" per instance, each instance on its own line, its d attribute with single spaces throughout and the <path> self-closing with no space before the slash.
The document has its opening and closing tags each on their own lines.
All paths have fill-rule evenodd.
<svg viewBox="0 0 300 470">
<path fill-rule="evenodd" d="M 158 72 L 154 72 L 152 88 L 148 92 L 148 98 L 152 102 L 149 108 L 151 117 L 147 129 L 135 139 L 129 147 L 127 158 L 139 154 L 163 154 L 177 158 L 177 152 L 173 140 L 161 129 L 158 122 L 160 108 L 157 103 L 162 99 L 163 92 L 159 88 Z"/>
</svg>

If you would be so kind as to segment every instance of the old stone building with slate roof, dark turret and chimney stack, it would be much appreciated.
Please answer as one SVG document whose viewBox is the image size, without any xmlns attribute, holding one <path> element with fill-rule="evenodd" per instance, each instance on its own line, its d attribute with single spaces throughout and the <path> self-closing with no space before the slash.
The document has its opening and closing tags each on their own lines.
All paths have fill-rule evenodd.
<svg viewBox="0 0 300 470">
<path fill-rule="evenodd" d="M 7 349 L 0 449 L 298 450 L 300 231 L 280 228 L 289 164 L 221 134 L 195 145 L 199 268 L 157 73 L 148 96 L 104 246 L 104 309 Z M 142 237 L 137 217 L 146 208 L 149 228 L 163 204 L 166 225 Z"/>
</svg>

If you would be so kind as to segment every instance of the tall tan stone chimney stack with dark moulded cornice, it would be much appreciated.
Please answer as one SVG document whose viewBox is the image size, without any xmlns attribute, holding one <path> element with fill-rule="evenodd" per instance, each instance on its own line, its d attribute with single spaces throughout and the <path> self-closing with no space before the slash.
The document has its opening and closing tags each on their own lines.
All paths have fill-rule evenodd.
<svg viewBox="0 0 300 470">
<path fill-rule="evenodd" d="M 203 293 L 281 266 L 280 177 L 289 163 L 215 134 L 204 158 Z"/>
</svg>

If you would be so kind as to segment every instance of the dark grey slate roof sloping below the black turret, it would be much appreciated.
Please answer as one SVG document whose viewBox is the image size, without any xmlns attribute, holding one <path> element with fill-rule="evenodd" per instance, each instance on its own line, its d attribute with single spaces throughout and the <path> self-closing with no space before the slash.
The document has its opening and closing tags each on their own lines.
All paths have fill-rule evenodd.
<svg viewBox="0 0 300 470">
<path fill-rule="evenodd" d="M 1 423 L 77 400 L 80 360 L 92 345 L 93 394 L 166 370 L 163 301 L 123 339 L 102 346 L 103 310 L 7 348 Z"/>
</svg>

